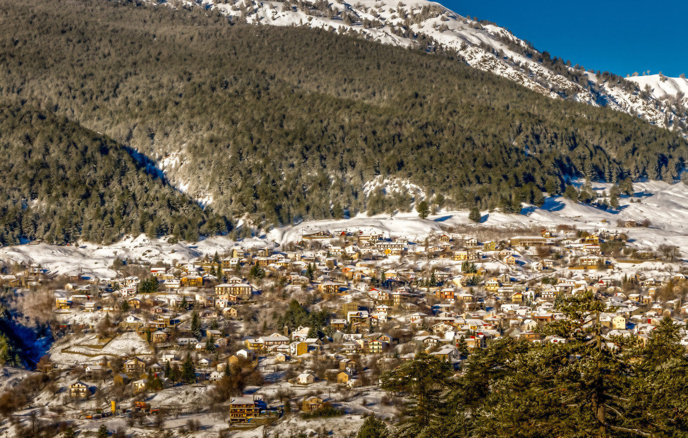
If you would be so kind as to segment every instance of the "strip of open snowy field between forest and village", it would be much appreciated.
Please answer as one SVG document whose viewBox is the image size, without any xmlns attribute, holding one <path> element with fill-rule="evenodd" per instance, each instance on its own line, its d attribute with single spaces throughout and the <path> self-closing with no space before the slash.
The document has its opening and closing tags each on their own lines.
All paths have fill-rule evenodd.
<svg viewBox="0 0 688 438">
<path fill-rule="evenodd" d="M 594 188 L 605 190 L 610 184 L 596 183 Z M 577 204 L 563 197 L 548 198 L 542 208 L 524 206 L 521 214 L 482 212 L 482 221 L 472 223 L 466 210 L 442 210 L 427 219 L 420 219 L 416 212 L 396 215 L 358 215 L 340 221 L 307 221 L 294 226 L 273 228 L 261 237 L 232 241 L 226 236 L 208 237 L 197 243 L 180 241 L 174 245 L 166 237 L 149 239 L 144 234 L 127 237 L 113 245 L 99 246 L 94 243 L 80 243 L 73 246 L 15 245 L 0 248 L 0 260 L 5 263 L 19 262 L 40 265 L 52 274 L 76 274 L 81 272 L 98 278 L 116 277 L 110 269 L 116 257 L 128 261 L 150 263 L 173 263 L 192 261 L 204 255 L 226 254 L 234 245 L 244 248 L 276 247 L 296 242 L 303 234 L 319 230 L 383 232 L 386 237 L 407 237 L 411 241 L 422 241 L 431 233 L 442 232 L 455 227 L 460 233 L 470 235 L 480 230 L 500 229 L 517 232 L 523 228 L 554 228 L 557 225 L 576 226 L 581 230 L 594 231 L 600 228 L 615 230 L 618 219 L 649 219 L 649 228 L 627 228 L 623 231 L 630 237 L 630 245 L 638 249 L 654 250 L 666 243 L 677 245 L 682 256 L 688 254 L 688 186 L 683 183 L 669 185 L 663 182 L 637 183 L 636 197 L 621 199 L 619 212 L 605 211 L 592 206 Z M 639 202 L 636 202 L 640 200 Z"/>
</svg>

